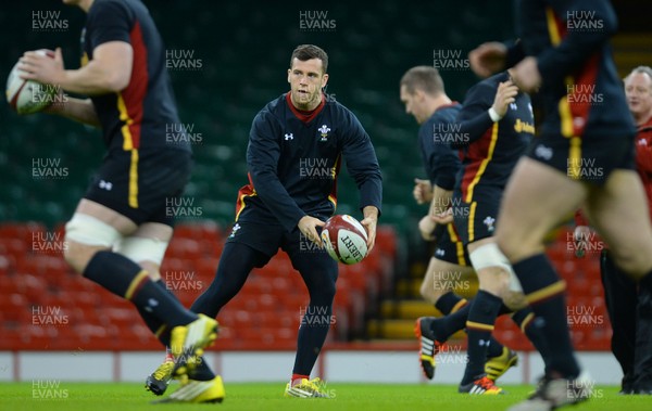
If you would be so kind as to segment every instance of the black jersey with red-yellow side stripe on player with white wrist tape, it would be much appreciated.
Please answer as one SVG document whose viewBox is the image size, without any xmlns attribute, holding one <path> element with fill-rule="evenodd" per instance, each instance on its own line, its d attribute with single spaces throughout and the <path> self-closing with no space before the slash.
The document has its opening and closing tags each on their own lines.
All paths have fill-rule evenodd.
<svg viewBox="0 0 652 411">
<path fill-rule="evenodd" d="M 503 72 L 472 87 L 457 116 L 460 132 L 465 137 L 457 141 L 466 144 L 453 146 L 462 149 L 456 187 L 464 202 L 471 203 L 474 191 L 482 185 L 503 190 L 535 133 L 532 106 L 526 93 L 516 95 L 500 121 L 493 123 L 489 116 L 499 84 L 509 79 Z"/>
</svg>

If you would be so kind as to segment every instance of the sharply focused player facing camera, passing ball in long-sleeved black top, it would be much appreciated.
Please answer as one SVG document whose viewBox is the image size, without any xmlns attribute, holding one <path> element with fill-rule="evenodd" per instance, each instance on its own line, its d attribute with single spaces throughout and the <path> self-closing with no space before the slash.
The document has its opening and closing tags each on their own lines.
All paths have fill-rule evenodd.
<svg viewBox="0 0 652 411">
<path fill-rule="evenodd" d="M 191 307 L 195 312 L 217 316 L 254 267 L 265 266 L 279 247 L 286 252 L 310 294 L 285 389 L 286 396 L 301 398 L 328 396 L 323 382 L 311 380 L 310 373 L 330 326 L 338 267 L 325 249 L 310 244 L 321 246 L 317 228 L 335 211 L 342 162 L 360 190 L 361 222 L 369 251 L 383 195 L 369 137 L 348 108 L 328 101 L 322 91 L 328 81 L 327 68 L 324 50 L 299 46 L 287 72 L 291 90 L 255 116 L 247 149 L 249 184 L 238 193 L 236 223 L 213 283 Z"/>
</svg>

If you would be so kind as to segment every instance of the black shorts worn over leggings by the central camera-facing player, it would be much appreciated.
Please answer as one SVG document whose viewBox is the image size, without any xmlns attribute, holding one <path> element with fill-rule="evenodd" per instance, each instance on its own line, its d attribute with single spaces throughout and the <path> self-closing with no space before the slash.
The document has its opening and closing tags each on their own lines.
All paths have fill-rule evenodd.
<svg viewBox="0 0 652 411">
<path fill-rule="evenodd" d="M 337 278 L 337 261 L 330 258 L 325 248 L 319 248 L 301 234 L 299 229 L 287 232 L 280 224 L 239 220 L 234 224 L 226 242 L 246 244 L 262 253 L 264 257 L 259 258 L 254 267 L 265 266 L 280 248 L 288 254 L 294 269 L 301 271 L 297 262 L 308 258 L 313 265 L 311 269 Z"/>
</svg>

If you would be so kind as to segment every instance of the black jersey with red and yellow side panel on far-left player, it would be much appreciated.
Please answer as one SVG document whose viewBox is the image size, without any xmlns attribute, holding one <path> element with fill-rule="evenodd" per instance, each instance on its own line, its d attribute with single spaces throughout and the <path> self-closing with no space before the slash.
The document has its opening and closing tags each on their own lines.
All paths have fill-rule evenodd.
<svg viewBox="0 0 652 411">
<path fill-rule="evenodd" d="M 190 151 L 185 138 L 168 139 L 179 130 L 165 47 L 147 8 L 138 0 L 96 0 L 88 10 L 82 35 L 82 65 L 93 50 L 109 41 L 134 49 L 129 85 L 117 93 L 91 95 L 109 149 L 172 147 Z M 173 133 L 176 136 L 176 133 Z"/>
</svg>

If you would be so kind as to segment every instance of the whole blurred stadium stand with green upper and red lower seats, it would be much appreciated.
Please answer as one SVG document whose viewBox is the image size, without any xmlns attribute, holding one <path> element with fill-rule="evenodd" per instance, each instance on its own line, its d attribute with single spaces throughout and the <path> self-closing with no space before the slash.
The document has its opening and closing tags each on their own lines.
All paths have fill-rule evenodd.
<svg viewBox="0 0 652 411">
<path fill-rule="evenodd" d="M 381 222 L 389 224 L 380 228 L 378 248 L 369 258 L 358 266 L 341 266 L 335 332 L 329 338 L 413 339 L 414 319 L 434 311 L 416 301 L 427 249 L 413 229 L 423 209 L 413 204 L 411 192 L 413 178 L 423 176 L 423 170 L 414 144 L 417 127 L 403 112 L 398 81 L 406 68 L 432 64 L 434 50 L 465 55 L 481 41 L 511 37 L 511 16 L 484 1 L 465 2 L 462 11 L 451 2 L 414 8 L 390 0 L 374 7 L 349 2 L 322 5 L 337 28 L 311 33 L 300 30 L 299 11 L 306 7 L 299 2 L 255 8 L 240 2 L 202 3 L 201 8 L 192 1 L 146 2 L 168 49 L 186 50 L 201 60 L 199 69 L 172 72 L 181 119 L 202 138 L 195 147 L 196 168 L 185 193 L 200 207 L 201 220 L 188 219 L 177 227 L 162 268 L 164 280 L 165 273 L 171 275 L 171 287 L 186 305 L 210 283 L 233 220 L 237 190 L 246 183 L 243 159 L 251 120 L 262 105 L 287 89 L 289 51 L 298 43 L 315 42 L 330 55 L 327 93 L 359 116 L 377 149 L 385 187 Z M 32 10 L 39 8 L 61 8 L 70 29 L 25 33 Z M 11 13 L 0 13 L 0 25 L 25 37 L 21 41 L 13 36 L 0 38 L 0 77 L 7 77 L 23 51 L 38 48 L 62 46 L 66 65 L 77 65 L 83 21 L 78 11 L 46 0 L 13 2 L 10 9 Z M 454 23 L 452 15 L 457 17 Z M 651 63 L 649 43 L 649 35 L 637 33 L 614 40 L 620 73 Z M 476 80 L 469 70 L 447 70 L 442 76 L 449 95 L 456 100 L 463 100 Z M 63 246 L 61 222 L 71 216 L 103 154 L 99 133 L 43 115 L 18 117 L 1 104 L 0 136 L 0 350 L 158 349 L 133 308 L 74 275 L 58 249 Z M 59 162 L 67 176 L 35 178 L 33 168 L 39 158 Z M 355 187 L 342 174 L 338 213 L 355 215 Z M 595 326 L 578 324 L 574 342 L 578 349 L 606 350 L 611 330 L 595 256 L 575 259 L 564 249 L 565 232 L 560 235 L 549 255 L 568 282 L 568 305 L 594 308 L 604 319 Z M 220 314 L 224 327 L 218 349 L 293 349 L 306 298 L 289 261 L 278 255 L 251 274 L 242 293 Z M 40 321 L 39 309 L 53 308 L 61 311 L 48 318 L 67 319 L 67 324 L 33 326 Z M 254 327 L 256 333 L 264 331 L 263 341 L 255 339 Z M 529 347 L 511 322 L 501 319 L 498 329 L 503 342 Z M 109 338 L 117 333 L 128 335 L 120 339 L 121 346 Z"/>
</svg>

